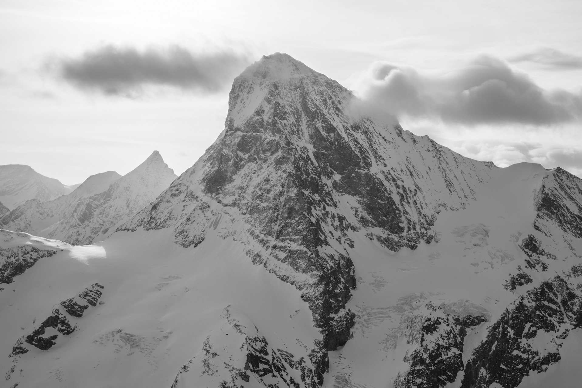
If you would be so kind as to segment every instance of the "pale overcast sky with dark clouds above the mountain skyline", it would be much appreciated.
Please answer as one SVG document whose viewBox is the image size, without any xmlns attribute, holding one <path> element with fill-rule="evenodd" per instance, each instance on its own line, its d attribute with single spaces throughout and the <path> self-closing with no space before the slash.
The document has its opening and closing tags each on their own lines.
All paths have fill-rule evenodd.
<svg viewBox="0 0 582 388">
<path fill-rule="evenodd" d="M 233 78 L 286 52 L 418 135 L 582 175 L 582 1 L 0 2 L 0 164 L 180 174 Z"/>
</svg>

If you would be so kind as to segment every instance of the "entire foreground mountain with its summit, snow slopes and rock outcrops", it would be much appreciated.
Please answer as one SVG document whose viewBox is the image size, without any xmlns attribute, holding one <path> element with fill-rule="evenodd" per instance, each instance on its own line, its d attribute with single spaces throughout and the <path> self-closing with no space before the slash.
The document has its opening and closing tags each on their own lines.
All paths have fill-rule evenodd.
<svg viewBox="0 0 582 388">
<path fill-rule="evenodd" d="M 579 381 L 582 181 L 358 106 L 265 56 L 205 155 L 107 240 L 3 231 L 5 386 Z"/>
</svg>

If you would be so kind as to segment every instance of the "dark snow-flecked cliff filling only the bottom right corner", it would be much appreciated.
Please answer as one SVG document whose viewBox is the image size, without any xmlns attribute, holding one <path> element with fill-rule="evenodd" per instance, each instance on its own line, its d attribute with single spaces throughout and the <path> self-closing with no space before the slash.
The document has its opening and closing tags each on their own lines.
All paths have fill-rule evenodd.
<svg viewBox="0 0 582 388">
<path fill-rule="evenodd" d="M 488 330 L 467 361 L 462 387 L 517 387 L 530 372 L 544 372 L 560 360 L 559 349 L 571 325 L 580 326 L 582 297 L 560 276 L 542 282 L 514 301 Z M 548 333 L 547 353 L 533 342 Z"/>
</svg>

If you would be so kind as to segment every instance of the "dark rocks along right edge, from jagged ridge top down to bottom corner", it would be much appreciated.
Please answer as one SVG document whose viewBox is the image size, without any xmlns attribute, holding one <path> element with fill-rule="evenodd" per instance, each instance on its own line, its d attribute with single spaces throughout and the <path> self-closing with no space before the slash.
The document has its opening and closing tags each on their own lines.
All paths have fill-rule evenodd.
<svg viewBox="0 0 582 388">
<path fill-rule="evenodd" d="M 561 359 L 560 348 L 570 330 L 582 325 L 582 287 L 576 281 L 581 271 L 577 265 L 568 273 L 553 266 L 558 258 L 566 261 L 569 250 L 579 257 L 573 241 L 582 236 L 581 203 L 581 179 L 562 168 L 542 179 L 534 196 L 535 233 L 519 246 L 526 254 L 526 265 L 518 266 L 518 273 L 510 274 L 504 286 L 512 292 L 520 288 L 523 295 L 488 328 L 487 338 L 466 363 L 462 387 L 493 383 L 517 387 L 531 372 L 545 372 Z M 542 281 L 536 284 L 534 278 L 540 277 Z M 541 344 L 545 351 L 538 350 Z"/>
</svg>

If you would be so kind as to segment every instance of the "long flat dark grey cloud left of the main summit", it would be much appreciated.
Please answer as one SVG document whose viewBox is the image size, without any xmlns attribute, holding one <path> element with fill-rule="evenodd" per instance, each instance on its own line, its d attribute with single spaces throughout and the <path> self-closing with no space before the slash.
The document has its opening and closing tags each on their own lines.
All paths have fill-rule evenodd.
<svg viewBox="0 0 582 388">
<path fill-rule="evenodd" d="M 84 91 L 135 96 L 147 86 L 212 93 L 221 91 L 249 64 L 232 51 L 195 53 L 180 46 L 148 48 L 101 46 L 77 58 L 57 58 L 49 69 Z"/>
</svg>

